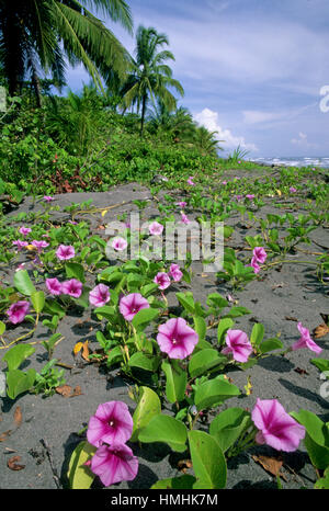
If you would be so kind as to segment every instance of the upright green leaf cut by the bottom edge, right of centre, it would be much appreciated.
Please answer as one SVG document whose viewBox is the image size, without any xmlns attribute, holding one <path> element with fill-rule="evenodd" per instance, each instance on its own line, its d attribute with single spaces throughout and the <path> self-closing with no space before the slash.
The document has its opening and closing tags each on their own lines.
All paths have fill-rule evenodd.
<svg viewBox="0 0 329 511">
<path fill-rule="evenodd" d="M 226 486 L 227 467 L 224 454 L 214 436 L 203 431 L 189 431 L 194 474 L 194 489 L 220 489 Z"/>
</svg>

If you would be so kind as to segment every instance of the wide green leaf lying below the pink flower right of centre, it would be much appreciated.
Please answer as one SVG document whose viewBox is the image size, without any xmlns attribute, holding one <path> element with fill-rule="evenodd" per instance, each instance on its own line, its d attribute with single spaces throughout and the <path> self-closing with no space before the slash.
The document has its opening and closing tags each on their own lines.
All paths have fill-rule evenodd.
<svg viewBox="0 0 329 511">
<path fill-rule="evenodd" d="M 195 390 L 194 404 L 197 410 L 204 410 L 220 405 L 225 399 L 239 396 L 240 390 L 224 379 L 211 379 L 203 383 Z"/>
</svg>

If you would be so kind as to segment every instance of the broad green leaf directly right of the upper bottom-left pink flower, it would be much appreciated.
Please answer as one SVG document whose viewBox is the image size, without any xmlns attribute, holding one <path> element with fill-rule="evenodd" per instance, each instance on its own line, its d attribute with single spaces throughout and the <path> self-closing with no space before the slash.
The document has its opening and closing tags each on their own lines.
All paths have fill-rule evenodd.
<svg viewBox="0 0 329 511">
<path fill-rule="evenodd" d="M 160 413 L 152 417 L 140 431 L 138 440 L 144 443 L 163 442 L 172 451 L 183 453 L 186 450 L 188 430 L 180 420 Z"/>
</svg>

